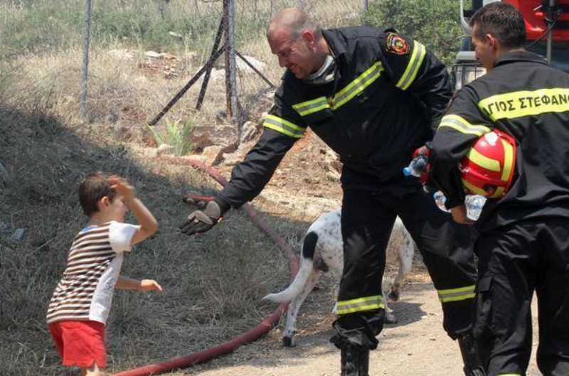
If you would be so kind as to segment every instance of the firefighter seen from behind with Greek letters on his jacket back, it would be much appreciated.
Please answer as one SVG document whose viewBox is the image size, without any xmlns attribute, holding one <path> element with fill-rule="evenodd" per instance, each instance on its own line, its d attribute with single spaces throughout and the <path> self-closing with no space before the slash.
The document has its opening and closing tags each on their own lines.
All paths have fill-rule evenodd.
<svg viewBox="0 0 569 376">
<path fill-rule="evenodd" d="M 474 335 L 488 352 L 488 375 L 526 375 L 535 289 L 538 367 L 569 375 L 569 75 L 523 50 L 524 22 L 513 6 L 489 4 L 470 23 L 488 72 L 454 98 L 431 154 L 432 177 L 457 222 L 468 222 L 457 163 L 472 143 L 497 129 L 517 144 L 514 182 L 477 222 Z"/>
</svg>

